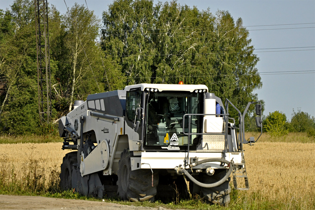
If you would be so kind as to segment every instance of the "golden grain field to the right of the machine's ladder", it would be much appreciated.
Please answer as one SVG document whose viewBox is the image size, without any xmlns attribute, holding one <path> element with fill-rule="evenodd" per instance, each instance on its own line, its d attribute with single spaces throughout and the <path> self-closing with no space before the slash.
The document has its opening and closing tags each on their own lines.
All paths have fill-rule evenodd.
<svg viewBox="0 0 315 210">
<path fill-rule="evenodd" d="M 268 199 L 315 209 L 315 144 L 260 142 L 244 146 L 249 177 L 249 194 L 259 193 L 258 199 Z"/>
</svg>

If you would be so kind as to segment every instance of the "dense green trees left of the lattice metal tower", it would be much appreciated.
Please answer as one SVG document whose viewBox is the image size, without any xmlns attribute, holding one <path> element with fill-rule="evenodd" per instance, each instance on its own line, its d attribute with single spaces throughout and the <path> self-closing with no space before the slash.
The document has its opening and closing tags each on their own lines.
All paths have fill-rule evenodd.
<svg viewBox="0 0 315 210">
<path fill-rule="evenodd" d="M 36 133 L 38 127 L 34 5 L 17 0 L 1 12 L 1 133 Z"/>
</svg>

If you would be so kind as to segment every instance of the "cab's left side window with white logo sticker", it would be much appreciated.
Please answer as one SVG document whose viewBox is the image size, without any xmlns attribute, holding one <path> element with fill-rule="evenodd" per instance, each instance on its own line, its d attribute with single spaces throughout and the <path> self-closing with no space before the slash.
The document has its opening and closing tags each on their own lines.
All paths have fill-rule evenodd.
<svg viewBox="0 0 315 210">
<path fill-rule="evenodd" d="M 129 91 L 126 97 L 126 115 L 129 121 L 135 120 L 135 111 L 141 107 L 141 91 Z"/>
</svg>

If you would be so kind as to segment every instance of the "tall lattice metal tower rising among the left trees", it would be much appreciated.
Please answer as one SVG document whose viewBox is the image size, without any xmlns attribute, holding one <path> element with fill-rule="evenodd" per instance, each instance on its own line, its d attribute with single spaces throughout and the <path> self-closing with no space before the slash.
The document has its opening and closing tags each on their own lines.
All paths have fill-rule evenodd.
<svg viewBox="0 0 315 210">
<path fill-rule="evenodd" d="M 37 80 L 39 121 L 51 119 L 51 84 L 49 64 L 48 8 L 47 0 L 34 0 L 37 43 Z"/>
</svg>

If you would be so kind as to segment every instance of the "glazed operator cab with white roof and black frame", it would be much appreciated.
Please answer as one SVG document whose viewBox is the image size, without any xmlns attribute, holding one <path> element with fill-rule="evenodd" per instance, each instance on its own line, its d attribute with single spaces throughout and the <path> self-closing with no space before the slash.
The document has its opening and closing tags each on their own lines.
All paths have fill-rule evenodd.
<svg viewBox="0 0 315 210">
<path fill-rule="evenodd" d="M 183 116 L 203 113 L 204 93 L 208 91 L 206 86 L 139 84 L 127 87 L 127 124 L 136 127 L 136 121 L 140 121 L 137 133 L 142 137 L 143 149 L 187 150 L 189 142 L 190 148 L 196 150 L 200 136 L 188 137 L 184 133 L 202 133 L 202 123 L 197 123 L 202 122 L 202 116 L 192 115 L 190 122 Z M 143 119 L 135 117 L 137 110 L 143 113 Z"/>
</svg>

